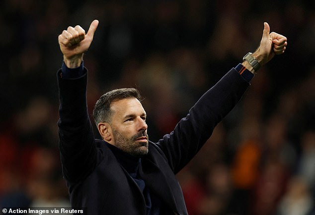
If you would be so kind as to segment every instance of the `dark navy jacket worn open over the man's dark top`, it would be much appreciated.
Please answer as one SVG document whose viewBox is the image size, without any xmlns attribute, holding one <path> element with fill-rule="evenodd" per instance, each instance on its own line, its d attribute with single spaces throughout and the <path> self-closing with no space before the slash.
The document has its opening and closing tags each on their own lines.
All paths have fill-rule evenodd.
<svg viewBox="0 0 315 215">
<path fill-rule="evenodd" d="M 73 208 L 87 215 L 146 215 L 145 199 L 135 181 L 102 140 L 95 140 L 86 104 L 87 70 L 63 79 L 60 97 L 60 156 Z M 215 126 L 236 105 L 249 83 L 232 69 L 208 90 L 169 135 L 149 142 L 139 174 L 146 186 L 178 215 L 187 215 L 175 174 L 209 139 Z"/>
</svg>

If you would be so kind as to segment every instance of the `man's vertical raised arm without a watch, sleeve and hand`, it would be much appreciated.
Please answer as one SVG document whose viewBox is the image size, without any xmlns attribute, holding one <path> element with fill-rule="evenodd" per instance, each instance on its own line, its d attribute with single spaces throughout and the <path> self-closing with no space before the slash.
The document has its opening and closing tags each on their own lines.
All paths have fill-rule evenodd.
<svg viewBox="0 0 315 215">
<path fill-rule="evenodd" d="M 58 38 L 64 63 L 68 67 L 63 66 L 63 69 L 75 73 L 67 76 L 66 71 L 60 70 L 57 74 L 60 99 L 59 149 L 63 174 L 70 183 L 84 179 L 96 165 L 96 143 L 86 102 L 87 71 L 79 66 L 97 25 L 98 21 L 94 20 L 87 34 L 79 25 L 68 27 Z M 80 75 L 76 75 L 78 70 L 81 70 L 78 73 Z"/>
</svg>

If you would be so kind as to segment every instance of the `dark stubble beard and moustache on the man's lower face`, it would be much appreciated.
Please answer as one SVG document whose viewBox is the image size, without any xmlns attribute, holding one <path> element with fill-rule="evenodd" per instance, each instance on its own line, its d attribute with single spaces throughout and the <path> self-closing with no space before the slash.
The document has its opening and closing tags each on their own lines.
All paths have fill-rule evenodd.
<svg viewBox="0 0 315 215">
<path fill-rule="evenodd" d="M 135 156 L 135 157 L 142 157 L 148 153 L 148 140 L 146 142 L 138 142 L 136 139 L 141 137 L 147 137 L 148 134 L 146 131 L 138 132 L 136 135 L 132 136 L 131 138 L 126 137 L 122 133 L 117 130 L 112 130 L 113 136 L 115 139 L 115 146 L 120 150 Z"/>
</svg>

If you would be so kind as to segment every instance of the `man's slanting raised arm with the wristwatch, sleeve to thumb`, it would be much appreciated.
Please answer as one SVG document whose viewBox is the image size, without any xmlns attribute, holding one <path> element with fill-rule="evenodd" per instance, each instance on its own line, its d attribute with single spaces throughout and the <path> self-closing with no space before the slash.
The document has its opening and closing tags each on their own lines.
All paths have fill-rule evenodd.
<svg viewBox="0 0 315 215">
<path fill-rule="evenodd" d="M 158 146 L 163 150 L 175 173 L 199 151 L 210 138 L 215 126 L 240 100 L 249 86 L 244 73 L 253 76 L 250 72 L 256 73 L 260 66 L 265 65 L 275 55 L 284 53 L 287 38 L 269 31 L 269 25 L 265 22 L 260 45 L 254 53 L 250 54 L 258 66 L 244 60 L 236 68 L 232 68 L 197 101 L 186 118 L 176 125 L 174 131 L 159 141 Z"/>
</svg>

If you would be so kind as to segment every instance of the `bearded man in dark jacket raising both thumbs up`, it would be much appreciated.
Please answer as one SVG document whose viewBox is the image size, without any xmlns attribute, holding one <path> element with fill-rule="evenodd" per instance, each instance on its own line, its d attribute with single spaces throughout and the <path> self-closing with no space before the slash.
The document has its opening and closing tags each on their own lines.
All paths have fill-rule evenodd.
<svg viewBox="0 0 315 215">
<path fill-rule="evenodd" d="M 174 131 L 148 141 L 146 116 L 136 89 L 115 89 L 96 102 L 93 117 L 103 140 L 95 140 L 87 113 L 83 53 L 97 28 L 68 27 L 59 35 L 64 55 L 58 72 L 60 155 L 73 208 L 88 215 L 187 215 L 175 174 L 209 139 L 236 105 L 260 66 L 283 54 L 286 37 L 264 23 L 260 46 L 246 54 L 190 109 Z"/>
</svg>

